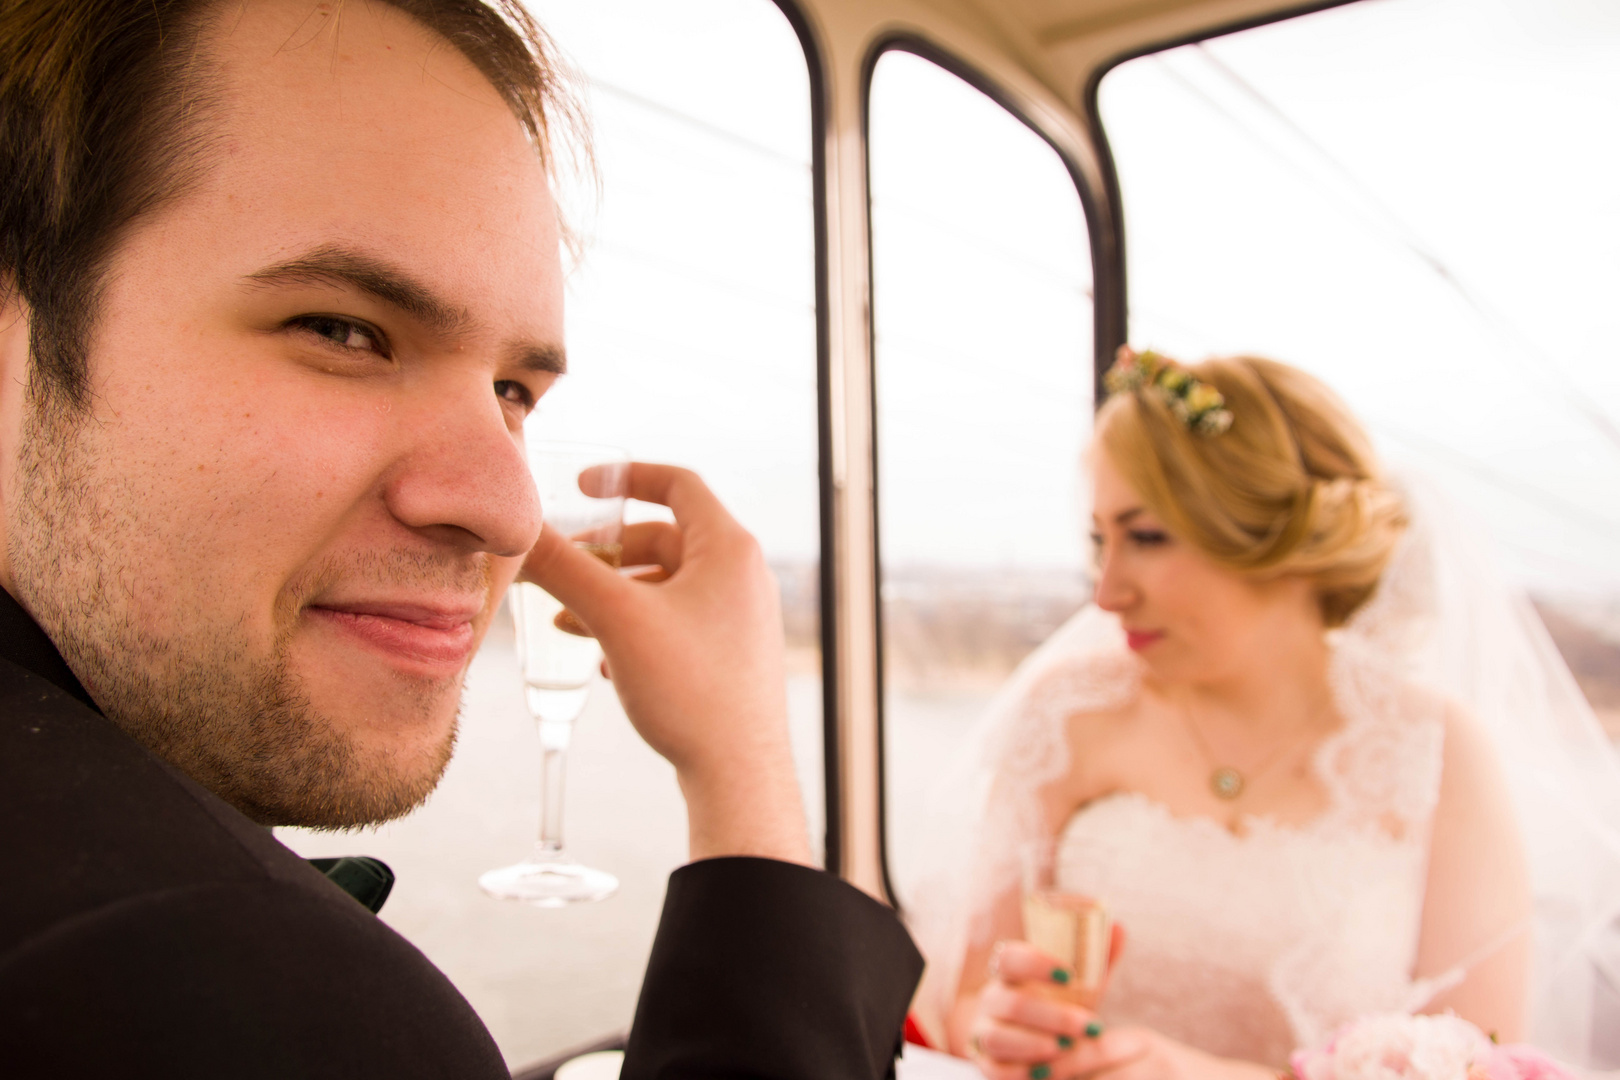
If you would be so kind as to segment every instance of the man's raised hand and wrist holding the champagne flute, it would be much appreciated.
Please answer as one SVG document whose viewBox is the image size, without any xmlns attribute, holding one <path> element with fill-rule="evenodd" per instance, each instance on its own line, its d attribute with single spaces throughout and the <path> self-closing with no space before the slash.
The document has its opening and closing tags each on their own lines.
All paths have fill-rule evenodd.
<svg viewBox="0 0 1620 1080">
<path fill-rule="evenodd" d="M 630 497 L 676 523 L 624 531 L 620 576 L 549 526 L 518 575 L 562 601 L 601 641 L 637 732 L 676 766 L 692 858 L 761 855 L 810 863 L 787 740 L 781 599 L 758 542 L 695 473 L 632 465 Z"/>
</svg>

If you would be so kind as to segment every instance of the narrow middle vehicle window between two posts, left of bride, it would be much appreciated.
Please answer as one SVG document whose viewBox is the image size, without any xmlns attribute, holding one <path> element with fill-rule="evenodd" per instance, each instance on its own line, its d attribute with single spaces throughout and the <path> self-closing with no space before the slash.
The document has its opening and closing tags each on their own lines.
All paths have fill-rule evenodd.
<svg viewBox="0 0 1620 1080">
<path fill-rule="evenodd" d="M 956 74 L 885 53 L 870 96 L 888 861 L 928 779 L 1087 599 L 1090 256 L 1061 157 Z"/>
</svg>

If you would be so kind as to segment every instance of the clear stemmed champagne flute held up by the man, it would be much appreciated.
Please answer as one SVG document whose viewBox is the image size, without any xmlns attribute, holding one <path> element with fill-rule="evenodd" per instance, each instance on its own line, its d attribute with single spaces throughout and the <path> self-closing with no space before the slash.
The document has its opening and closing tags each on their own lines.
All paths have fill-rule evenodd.
<svg viewBox="0 0 1620 1080">
<path fill-rule="evenodd" d="M 614 447 L 539 442 L 530 447 L 546 525 L 611 567 L 619 565 L 630 457 Z M 590 494 L 586 494 L 590 492 Z M 573 722 L 591 693 L 603 653 L 562 604 L 538 585 L 507 593 L 517 623 L 523 698 L 539 727 L 539 837 L 522 863 L 491 870 L 478 886 L 502 900 L 564 907 L 603 900 L 619 879 L 583 866 L 562 845 L 562 777 Z"/>
</svg>

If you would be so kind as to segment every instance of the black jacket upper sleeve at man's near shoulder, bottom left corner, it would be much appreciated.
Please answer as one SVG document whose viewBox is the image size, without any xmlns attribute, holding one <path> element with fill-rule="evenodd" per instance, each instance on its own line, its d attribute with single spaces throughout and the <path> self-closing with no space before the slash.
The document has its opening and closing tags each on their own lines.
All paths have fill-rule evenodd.
<svg viewBox="0 0 1620 1080">
<path fill-rule="evenodd" d="M 275 882 L 131 897 L 0 955 L 0 1075 L 510 1077 L 403 938 L 347 895 Z"/>
</svg>

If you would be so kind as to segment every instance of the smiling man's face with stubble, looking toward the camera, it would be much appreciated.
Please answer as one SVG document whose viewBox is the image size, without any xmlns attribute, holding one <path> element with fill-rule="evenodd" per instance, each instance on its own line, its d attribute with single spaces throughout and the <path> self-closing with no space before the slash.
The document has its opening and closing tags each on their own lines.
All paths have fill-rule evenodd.
<svg viewBox="0 0 1620 1080">
<path fill-rule="evenodd" d="M 5 583 L 251 816 L 386 819 L 437 782 L 539 531 L 556 212 L 494 87 L 390 6 L 230 3 L 204 40 L 204 175 L 112 259 L 89 416 L 6 371 Z"/>
</svg>

